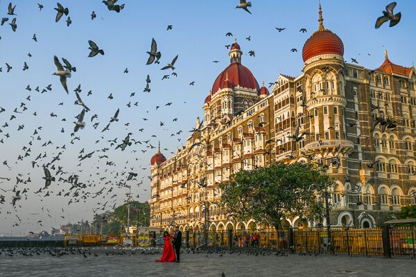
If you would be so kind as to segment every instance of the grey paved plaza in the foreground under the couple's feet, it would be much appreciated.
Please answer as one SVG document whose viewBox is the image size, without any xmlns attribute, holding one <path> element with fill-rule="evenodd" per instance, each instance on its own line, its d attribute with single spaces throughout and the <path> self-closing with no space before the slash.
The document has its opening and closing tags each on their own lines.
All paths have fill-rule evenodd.
<svg viewBox="0 0 416 277">
<path fill-rule="evenodd" d="M 0 255 L 0 276 L 415 276 L 416 260 L 349 256 L 248 256 L 184 253 L 180 263 L 155 262 L 160 255 Z M 95 256 L 96 253 L 98 256 Z"/>
</svg>

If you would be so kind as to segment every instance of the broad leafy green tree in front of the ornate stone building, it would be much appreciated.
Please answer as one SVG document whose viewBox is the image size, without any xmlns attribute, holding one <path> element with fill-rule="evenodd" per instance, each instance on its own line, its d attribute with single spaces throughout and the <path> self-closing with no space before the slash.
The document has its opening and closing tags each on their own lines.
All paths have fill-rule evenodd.
<svg viewBox="0 0 416 277">
<path fill-rule="evenodd" d="M 277 163 L 234 173 L 220 184 L 221 202 L 229 217 L 254 219 L 279 230 L 285 217 L 322 217 L 325 206 L 317 196 L 332 184 L 324 169 L 309 163 Z"/>
</svg>

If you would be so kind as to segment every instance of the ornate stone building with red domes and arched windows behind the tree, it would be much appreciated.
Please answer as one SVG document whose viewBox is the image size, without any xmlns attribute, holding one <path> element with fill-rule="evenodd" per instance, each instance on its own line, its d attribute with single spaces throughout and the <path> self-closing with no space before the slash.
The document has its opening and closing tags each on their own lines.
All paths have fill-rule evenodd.
<svg viewBox="0 0 416 277">
<path fill-rule="evenodd" d="M 159 151 L 151 160 L 150 226 L 256 227 L 227 220 L 218 185 L 241 168 L 274 161 L 327 166 L 336 179 L 333 226 L 379 226 L 416 204 L 415 67 L 393 64 L 387 52 L 375 70 L 346 63 L 342 40 L 324 28 L 321 8 L 319 15 L 304 44 L 302 75 L 279 75 L 272 93 L 259 87 L 232 44 L 230 64 L 205 100 L 200 132 L 170 159 Z M 306 132 L 298 142 L 288 138 L 297 127 Z M 295 227 L 317 223 L 286 220 Z"/>
</svg>

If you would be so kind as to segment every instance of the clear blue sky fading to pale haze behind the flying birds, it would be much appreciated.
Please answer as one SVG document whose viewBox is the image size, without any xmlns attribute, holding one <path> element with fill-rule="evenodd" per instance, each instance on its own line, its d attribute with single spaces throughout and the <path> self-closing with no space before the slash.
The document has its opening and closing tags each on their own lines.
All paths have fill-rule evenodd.
<svg viewBox="0 0 416 277">
<path fill-rule="evenodd" d="M 16 184 L 16 177 L 24 180 L 31 177 L 30 183 L 17 185 L 18 190 L 26 188 L 28 193 L 17 202 L 15 209 L 10 204 L 14 193 L 0 190 L 5 199 L 5 203 L 0 204 L 0 233 L 50 231 L 51 227 L 57 228 L 67 222 L 92 220 L 92 208 L 102 207 L 101 204 L 107 200 L 105 211 L 114 204 L 123 203 L 127 190 L 117 188 L 114 182 L 125 179 L 125 176 L 120 177 L 125 171 L 139 174 L 137 180 L 128 182 L 134 198 L 148 200 L 149 161 L 156 150 L 146 148 L 146 144 L 136 144 L 121 152 L 114 150 L 114 146 L 110 147 L 107 141 L 118 138 L 117 142 L 120 142 L 131 132 L 133 139 L 150 139 L 155 146 L 160 140 L 162 148 L 168 149 L 162 152 L 169 157 L 170 152 L 187 139 L 196 117 L 202 117 L 202 105 L 209 89 L 216 76 L 229 64 L 225 45 L 232 44 L 234 37 L 244 53 L 242 63 L 252 71 L 259 84 L 263 80 L 274 82 L 279 72 L 299 75 L 303 65 L 302 46 L 318 29 L 318 1 L 253 0 L 252 15 L 235 9 L 238 2 L 119 0 L 119 3 L 125 3 L 125 8 L 116 13 L 107 10 L 101 0 L 61 0 L 62 6 L 69 8 L 72 20 L 71 26 L 67 27 L 66 16 L 55 23 L 56 11 L 53 8 L 56 1 L 12 1 L 17 6 L 17 16 L 7 15 L 9 1 L 0 1 L 0 17 L 9 17 L 9 21 L 0 26 L 0 67 L 3 68 L 0 73 L 0 107 L 6 109 L 0 114 L 0 124 L 9 125 L 0 127 L 0 140 L 3 139 L 0 143 L 0 177 L 11 178 L 10 181 L 0 179 L 0 188 L 10 190 Z M 44 5 L 42 11 L 37 8 L 37 3 Z M 375 20 L 389 1 L 322 0 L 321 3 L 324 26 L 343 39 L 344 57 L 348 62 L 354 57 L 360 65 L 375 69 L 383 62 L 385 48 L 390 60 L 396 64 L 412 66 L 416 60 L 415 1 L 398 1 L 395 11 L 401 12 L 401 22 L 394 28 L 385 24 L 378 30 L 374 28 Z M 97 15 L 94 20 L 90 17 L 93 10 Z M 17 19 L 16 32 L 12 32 L 9 25 L 14 17 Z M 168 24 L 173 25 L 172 30 L 166 30 Z M 275 27 L 286 30 L 278 33 Z M 300 33 L 300 28 L 306 28 L 308 32 Z M 234 37 L 225 37 L 228 32 Z M 32 39 L 33 34 L 36 34 L 37 42 Z M 245 39 L 248 36 L 251 41 Z M 161 63 L 146 66 L 146 51 L 150 50 L 152 37 L 162 52 Z M 87 57 L 89 39 L 103 48 L 105 55 Z M 297 53 L 291 53 L 291 48 L 297 48 Z M 255 51 L 255 57 L 247 55 L 250 50 Z M 29 52 L 32 57 L 28 57 Z M 69 95 L 64 92 L 59 78 L 52 75 L 56 70 L 53 55 L 65 57 L 76 66 L 76 72 L 68 79 Z M 171 75 L 168 80 L 162 80 L 162 76 L 171 70 L 161 71 L 160 68 L 171 62 L 175 55 L 179 55 L 175 64 L 177 77 Z M 214 64 L 213 60 L 220 62 Z M 10 73 L 6 73 L 6 62 L 12 66 Z M 22 71 L 24 62 L 29 66 L 26 71 Z M 125 68 L 128 68 L 127 74 L 123 73 Z M 147 74 L 152 79 L 151 92 L 143 93 Z M 195 81 L 194 86 L 189 85 L 191 81 Z M 32 91 L 25 89 L 28 84 Z M 42 94 L 34 91 L 35 87 L 42 90 L 48 84 L 52 84 L 52 91 Z M 86 114 L 87 127 L 76 133 L 80 141 L 71 144 L 73 117 L 81 111 L 79 106 L 73 105 L 76 100 L 73 89 L 78 84 L 83 90 L 80 95 L 91 111 Z M 89 90 L 92 90 L 92 96 L 87 96 Z M 132 92 L 135 96 L 130 97 Z M 110 93 L 113 100 L 107 99 Z M 31 100 L 26 100 L 28 96 Z M 21 102 L 26 104 L 27 110 L 23 114 L 13 112 L 16 107 L 17 111 L 22 111 Z M 60 102 L 64 105 L 58 105 Z M 130 108 L 126 106 L 128 102 L 131 102 Z M 138 102 L 137 106 L 135 102 Z M 165 106 L 167 102 L 172 102 L 172 105 Z M 156 106 L 160 108 L 156 110 Z M 101 133 L 118 108 L 121 110 L 119 122 L 112 123 L 110 131 Z M 37 116 L 33 116 L 35 111 Z M 52 112 L 58 117 L 51 117 Z M 90 121 L 93 114 L 98 114 L 98 120 L 94 120 L 100 122 L 97 129 Z M 12 115 L 16 118 L 10 120 Z M 177 121 L 173 122 L 173 118 Z M 160 121 L 165 123 L 163 127 L 159 126 Z M 125 126 L 125 123 L 130 125 Z M 24 125 L 24 129 L 17 131 L 19 125 Z M 43 127 L 38 130 L 41 140 L 35 136 L 30 156 L 23 161 L 17 160 L 19 155 L 25 154 L 22 148 L 30 146 L 31 135 L 40 126 Z M 140 128 L 144 131 L 139 132 Z M 181 129 L 183 133 L 180 136 L 171 136 Z M 10 135 L 9 139 L 6 134 Z M 42 147 L 47 141 L 53 144 Z M 62 145 L 67 149 L 56 149 Z M 102 148 L 110 150 L 95 152 L 92 159 L 77 167 L 78 153 L 82 148 L 85 148 L 85 153 Z M 143 153 L 141 150 L 147 151 Z M 70 197 L 63 197 L 70 184 L 62 181 L 55 181 L 42 193 L 34 194 L 44 186 L 42 164 L 51 161 L 58 152 L 62 155 L 60 161 L 55 162 L 57 168 L 62 166 L 65 172 L 80 175 L 80 182 L 92 184 L 80 190 L 80 196 L 73 201 L 83 195 L 86 199 L 80 199 L 76 204 L 68 205 Z M 32 168 L 31 161 L 40 153 L 46 153 L 47 157 L 37 161 L 40 167 Z M 103 154 L 114 161 L 115 166 L 105 166 L 107 159 L 98 159 Z M 3 161 L 8 161 L 10 170 L 3 166 Z M 51 170 L 53 175 L 55 171 Z M 57 179 L 68 176 L 57 176 Z M 107 179 L 101 181 L 102 177 Z M 104 184 L 109 180 L 113 183 Z M 137 186 L 141 180 L 143 184 Z M 106 194 L 111 187 L 114 190 Z M 85 194 L 96 193 L 101 188 L 105 188 L 104 194 L 94 199 Z M 57 196 L 62 190 L 62 196 Z M 48 191 L 51 196 L 44 197 Z M 112 195 L 116 196 L 110 198 Z M 42 222 L 38 223 L 40 220 Z M 16 223 L 19 226 L 13 226 Z"/>
</svg>

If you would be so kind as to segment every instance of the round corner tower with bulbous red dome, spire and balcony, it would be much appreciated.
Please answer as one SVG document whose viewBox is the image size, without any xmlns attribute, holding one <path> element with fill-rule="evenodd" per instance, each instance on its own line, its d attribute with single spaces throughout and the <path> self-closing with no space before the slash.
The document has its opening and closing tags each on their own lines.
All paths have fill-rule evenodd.
<svg viewBox="0 0 416 277">
<path fill-rule="evenodd" d="M 343 172 L 347 167 L 345 155 L 354 148 L 348 141 L 345 128 L 345 62 L 344 44 L 338 35 L 324 28 L 322 8 L 319 4 L 318 30 L 306 40 L 302 57 L 304 80 L 297 89 L 297 97 L 306 100 L 302 114 L 306 115 L 305 129 L 312 133 L 304 147 L 318 157 L 339 154 Z"/>
</svg>

